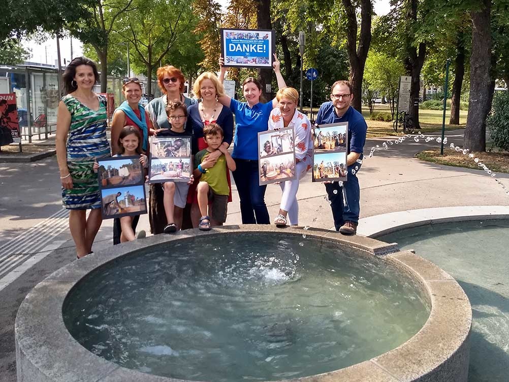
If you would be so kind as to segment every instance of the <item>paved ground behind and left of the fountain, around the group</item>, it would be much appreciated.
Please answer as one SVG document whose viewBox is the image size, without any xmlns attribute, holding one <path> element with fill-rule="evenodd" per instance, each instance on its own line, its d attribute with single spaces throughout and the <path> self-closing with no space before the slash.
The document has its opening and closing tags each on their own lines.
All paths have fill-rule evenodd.
<svg viewBox="0 0 509 382">
<path fill-rule="evenodd" d="M 461 146 L 463 130 L 447 131 L 448 144 Z M 367 140 L 365 152 L 386 138 Z M 446 167 L 422 162 L 413 155 L 439 147 L 435 142 L 406 140 L 389 145 L 365 158 L 358 174 L 361 186 L 361 218 L 430 207 L 507 206 L 509 196 L 481 170 Z M 498 176 L 509 188 L 509 175 Z M 56 158 L 33 163 L 0 163 L 0 380 L 14 381 L 14 319 L 22 299 L 55 269 L 74 260 L 73 242 L 62 209 Z M 269 185 L 269 214 L 277 214 L 278 185 Z M 238 195 L 229 205 L 227 224 L 241 224 Z M 298 193 L 300 225 L 332 227 L 325 188 L 306 176 Z M 366 221 L 365 227 L 368 227 Z M 112 221 L 104 221 L 94 250 L 112 245 Z M 147 215 L 139 229 L 149 232 Z M 359 233 L 362 232 L 362 219 Z M 367 232 L 367 231 L 366 231 Z"/>
</svg>

